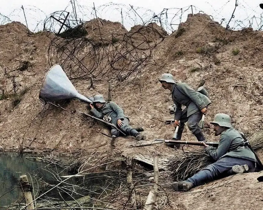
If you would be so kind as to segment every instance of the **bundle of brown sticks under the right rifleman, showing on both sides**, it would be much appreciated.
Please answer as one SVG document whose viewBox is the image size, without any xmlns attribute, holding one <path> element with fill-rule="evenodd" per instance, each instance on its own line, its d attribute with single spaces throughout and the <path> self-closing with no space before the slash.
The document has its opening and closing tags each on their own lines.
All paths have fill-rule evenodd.
<svg viewBox="0 0 263 210">
<path fill-rule="evenodd" d="M 263 131 L 249 138 L 253 150 L 263 147 Z M 204 151 L 176 150 L 174 157 L 168 158 L 167 169 L 175 181 L 183 181 L 214 161 Z"/>
</svg>

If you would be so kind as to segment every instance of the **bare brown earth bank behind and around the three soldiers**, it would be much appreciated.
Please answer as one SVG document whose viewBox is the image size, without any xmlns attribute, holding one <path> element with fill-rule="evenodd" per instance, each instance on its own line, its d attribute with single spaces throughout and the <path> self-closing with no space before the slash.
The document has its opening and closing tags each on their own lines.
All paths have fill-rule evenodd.
<svg viewBox="0 0 263 210">
<path fill-rule="evenodd" d="M 103 34 L 98 33 L 96 24 L 92 21 L 86 24 L 87 39 L 99 37 L 98 41 L 105 39 L 112 43 L 96 46 L 101 52 L 97 56 L 101 56 L 102 63 L 106 61 L 105 57 L 109 60 L 118 52 L 123 53 L 116 49 L 123 50 L 124 43 L 125 49 L 134 50 L 137 46 L 139 53 L 128 53 L 133 59 L 140 55 L 136 61 L 150 57 L 147 65 L 143 61 L 140 63 L 143 68 L 130 75 L 128 85 L 116 86 L 112 92 L 113 101 L 124 109 L 132 125 L 144 127 L 148 140 L 169 138 L 174 131 L 171 126 L 164 125 L 164 121 L 173 116 L 168 112 L 168 106 L 172 104 L 171 95 L 158 83 L 162 73 L 172 73 L 177 81 L 186 82 L 195 89 L 201 80 L 205 80 L 205 88 L 212 101 L 204 129 L 209 140 L 217 139 L 208 122 L 219 112 L 231 115 L 235 128 L 247 135 L 261 130 L 262 31 L 251 28 L 226 31 L 204 14 L 189 15 L 187 21 L 169 36 L 156 24 L 135 26 L 127 31 L 119 23 L 101 20 L 99 24 Z M 94 124 L 90 119 L 83 121 L 59 108 L 49 107 L 38 99 L 42 79 L 50 67 L 50 57 L 56 56 L 47 53 L 55 35 L 47 32 L 28 35 L 26 27 L 17 22 L 0 26 L 0 32 L 1 149 L 14 151 L 23 146 L 30 150 L 107 153 L 110 138 L 100 133 L 109 134 L 106 128 Z M 113 46 L 115 50 L 109 50 Z M 106 48 L 107 52 L 111 52 L 108 55 L 102 50 Z M 121 64 L 126 65 L 127 60 Z M 83 65 L 90 65 L 85 60 L 83 62 Z M 108 83 L 94 80 L 91 85 L 90 81 L 74 79 L 72 82 L 83 95 L 101 93 L 107 98 Z M 113 83 L 115 85 L 117 82 Z M 61 105 L 72 111 L 87 111 L 86 105 L 77 100 Z M 182 140 L 195 141 L 195 137 L 186 128 Z M 163 144 L 147 148 L 131 147 L 135 143 L 133 137 L 119 137 L 114 151 L 119 155 L 158 153 L 162 157 L 174 152 Z M 258 154 L 262 157 L 262 150 Z M 195 209 L 236 209 L 240 203 L 243 203 L 240 204 L 242 209 L 262 209 L 259 196 L 262 186 L 257 183 L 257 176 L 256 173 L 236 175 L 224 179 L 227 182 L 224 186 L 217 181 L 199 187 L 204 189 L 200 191 L 201 195 L 196 191 L 178 195 L 182 203 L 174 209 L 193 209 L 193 202 Z M 210 186 L 213 189 L 209 189 Z"/>
</svg>

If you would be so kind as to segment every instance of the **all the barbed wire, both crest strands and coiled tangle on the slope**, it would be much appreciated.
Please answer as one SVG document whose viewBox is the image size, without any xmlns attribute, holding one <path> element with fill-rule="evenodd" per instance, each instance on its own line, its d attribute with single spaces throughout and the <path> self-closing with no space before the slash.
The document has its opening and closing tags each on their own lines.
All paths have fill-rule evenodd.
<svg viewBox="0 0 263 210">
<path fill-rule="evenodd" d="M 234 8 L 233 13 L 222 17 L 226 8 Z M 227 29 L 254 27 L 261 30 L 263 26 L 262 15 L 244 1 L 227 1 L 217 10 L 211 5 L 211 11 L 210 18 Z M 49 65 L 61 63 L 70 79 L 117 81 L 123 85 L 128 78 L 136 78 L 144 68 L 156 65 L 152 50 L 176 31 L 188 14 L 196 13 L 204 11 L 189 5 L 164 8 L 156 14 L 133 5 L 95 6 L 93 3 L 83 6 L 70 1 L 64 10 L 50 15 L 32 6 L 22 6 L 8 17 L 2 15 L 0 22 L 18 18 L 27 26 L 32 25 L 33 32 L 43 30 L 57 34 L 56 37 L 48 35 L 51 39 Z"/>
</svg>

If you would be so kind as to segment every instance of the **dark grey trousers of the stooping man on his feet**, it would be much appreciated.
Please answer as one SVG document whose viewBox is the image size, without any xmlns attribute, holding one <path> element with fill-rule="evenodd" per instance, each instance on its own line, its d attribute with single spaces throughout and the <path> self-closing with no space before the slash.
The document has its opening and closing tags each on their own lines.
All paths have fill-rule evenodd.
<svg viewBox="0 0 263 210">
<path fill-rule="evenodd" d="M 201 111 L 197 111 L 196 113 L 187 117 L 187 108 L 182 111 L 182 115 L 180 118 L 180 126 L 177 133 L 177 139 L 180 140 L 184 124 L 187 122 L 187 126 L 189 130 L 196 136 L 198 141 L 205 141 L 205 137 L 202 134 L 201 128 L 199 128 L 199 121 L 202 119 L 203 113 Z"/>
</svg>

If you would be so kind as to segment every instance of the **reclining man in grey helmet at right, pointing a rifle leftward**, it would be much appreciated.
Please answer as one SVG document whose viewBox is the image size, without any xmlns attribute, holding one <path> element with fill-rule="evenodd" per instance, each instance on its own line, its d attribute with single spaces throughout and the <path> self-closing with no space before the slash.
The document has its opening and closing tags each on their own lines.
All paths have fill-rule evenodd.
<svg viewBox="0 0 263 210">
<path fill-rule="evenodd" d="M 219 178 L 222 174 L 254 172 L 256 157 L 245 145 L 241 134 L 231 124 L 230 116 L 217 114 L 214 117 L 214 135 L 220 135 L 218 148 L 208 146 L 203 142 L 205 152 L 216 162 L 211 163 L 198 173 L 183 182 L 175 182 L 175 190 L 187 191 L 194 186 Z"/>
</svg>

